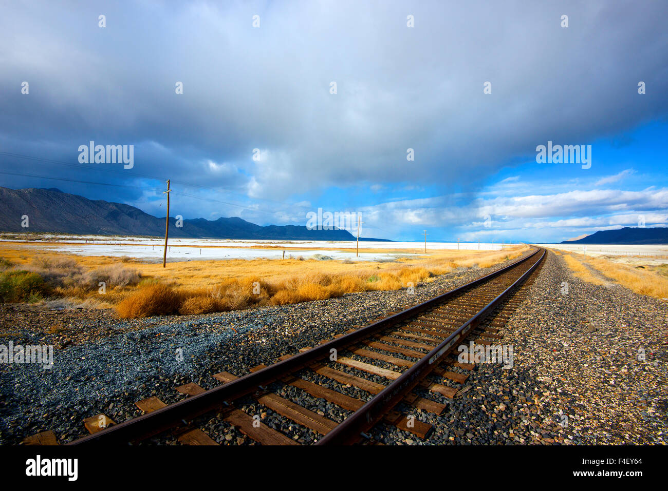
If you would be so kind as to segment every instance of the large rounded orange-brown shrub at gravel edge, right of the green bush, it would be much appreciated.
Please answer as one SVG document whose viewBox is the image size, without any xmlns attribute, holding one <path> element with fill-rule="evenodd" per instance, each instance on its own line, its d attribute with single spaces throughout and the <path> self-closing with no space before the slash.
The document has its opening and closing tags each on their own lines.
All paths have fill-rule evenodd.
<svg viewBox="0 0 668 491">
<path fill-rule="evenodd" d="M 140 318 L 176 314 L 182 303 L 182 295 L 173 288 L 155 284 L 140 288 L 116 306 L 121 318 Z"/>
</svg>

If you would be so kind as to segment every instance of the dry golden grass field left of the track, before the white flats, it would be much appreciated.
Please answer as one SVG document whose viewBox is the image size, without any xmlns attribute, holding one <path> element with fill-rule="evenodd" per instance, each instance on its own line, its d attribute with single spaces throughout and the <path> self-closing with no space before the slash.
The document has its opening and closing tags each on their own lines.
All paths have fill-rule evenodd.
<svg viewBox="0 0 668 491">
<path fill-rule="evenodd" d="M 53 243 L 48 246 L 53 247 Z M 527 249 L 527 246 L 516 246 L 503 251 L 445 250 L 428 258 L 402 258 L 395 262 L 206 260 L 172 262 L 167 268 L 162 268 L 162 264 L 134 262 L 134 268 L 142 277 L 138 286 L 120 283 L 108 290 L 104 300 L 115 304 L 118 315 L 124 318 L 294 304 L 351 292 L 417 286 L 458 268 L 488 268 L 518 258 Z M 56 254 L 40 250 L 35 244 L 27 247 L 0 244 L 0 257 L 15 264 L 31 260 L 48 262 L 53 258 L 75 260 L 77 268 L 88 268 L 88 272 L 113 270 L 114 265 L 119 264 L 118 258 Z M 249 271 L 253 274 L 249 275 Z M 56 289 L 56 294 L 81 300 L 96 296 L 76 286 Z"/>
</svg>

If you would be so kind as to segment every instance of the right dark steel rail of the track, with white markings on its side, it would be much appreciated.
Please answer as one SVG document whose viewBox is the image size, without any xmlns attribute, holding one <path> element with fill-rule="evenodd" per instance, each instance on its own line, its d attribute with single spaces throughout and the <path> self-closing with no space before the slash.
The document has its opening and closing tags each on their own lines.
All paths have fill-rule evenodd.
<svg viewBox="0 0 668 491">
<path fill-rule="evenodd" d="M 537 251 L 538 252 L 538 251 Z M 536 254 L 536 253 L 534 253 Z M 532 256 L 534 256 L 532 254 Z M 529 257 L 532 257 L 529 256 Z M 455 332 L 450 334 L 448 338 L 443 340 L 441 344 L 436 346 L 429 354 L 424 356 L 420 362 L 414 364 L 403 372 L 399 378 L 391 382 L 376 396 L 371 398 L 364 406 L 355 411 L 349 418 L 346 418 L 342 423 L 338 424 L 331 432 L 318 440 L 316 445 L 343 445 L 354 444 L 359 442 L 360 434 L 372 428 L 383 416 L 398 404 L 406 394 L 420 383 L 436 367 L 438 362 L 445 354 L 454 348 L 454 344 L 458 340 L 463 340 L 470 330 L 476 328 L 508 295 L 512 294 L 514 289 L 522 284 L 526 278 L 534 272 L 545 256 L 545 250 L 542 250 L 540 258 L 513 282 L 504 292 L 499 294 L 492 302 L 482 308 L 475 316 L 464 322 Z M 528 258 L 527 258 L 528 259 Z"/>
</svg>

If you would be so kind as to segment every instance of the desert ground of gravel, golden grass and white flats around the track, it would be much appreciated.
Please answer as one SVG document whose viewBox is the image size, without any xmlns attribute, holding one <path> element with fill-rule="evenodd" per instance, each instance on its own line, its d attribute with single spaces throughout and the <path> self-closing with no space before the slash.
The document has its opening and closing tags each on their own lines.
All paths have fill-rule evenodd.
<svg viewBox="0 0 668 491">
<path fill-rule="evenodd" d="M 183 260 L 174 251 L 162 268 L 140 252 L 132 256 L 130 238 L 118 241 L 122 256 L 110 254 L 110 243 L 90 245 L 102 246 L 100 254 L 83 254 L 90 250 L 71 237 L 0 242 L 5 280 L 24 271 L 45 285 L 28 298 L 5 298 L 0 339 L 55 348 L 50 370 L 0 366 L 1 444 L 18 444 L 44 430 L 53 430 L 61 443 L 71 441 L 86 434 L 81 422 L 88 416 L 104 413 L 116 422 L 138 416 L 137 400 L 180 400 L 184 395 L 174 386 L 195 382 L 211 388 L 212 374 L 246 374 L 530 252 L 521 245 L 478 251 L 428 244 L 425 255 L 419 244 L 399 249 L 393 243 L 373 244 L 375 249 L 365 249 L 369 256 L 354 260 L 348 248 L 273 243 L 263 246 L 278 246 L 281 258 Z M 192 243 L 178 247 L 200 245 L 204 249 Z M 223 247 L 251 255 L 262 251 L 257 243 L 243 246 Z M 283 250 L 290 251 L 285 260 Z M 480 365 L 467 381 L 470 389 L 440 398 L 446 414 L 421 412 L 420 419 L 435 428 L 428 440 L 385 424 L 374 429 L 374 438 L 386 444 L 665 444 L 668 278 L 661 252 L 609 260 L 609 254 L 548 250 L 528 300 L 504 333 L 504 342 L 515 347 L 514 368 Z M 655 264 L 636 268 L 618 258 Z M 103 276 L 104 294 L 98 288 Z M 260 300 L 242 293 L 255 282 Z M 168 300 L 181 302 L 181 312 L 140 308 L 147 297 L 154 301 L 165 291 L 171 292 Z M 176 349 L 184 353 L 182 360 L 174 360 Z M 267 418 L 292 431 L 280 415 Z M 253 443 L 216 418 L 206 432 L 221 444 Z M 300 438 L 308 443 L 311 437 Z"/>
</svg>

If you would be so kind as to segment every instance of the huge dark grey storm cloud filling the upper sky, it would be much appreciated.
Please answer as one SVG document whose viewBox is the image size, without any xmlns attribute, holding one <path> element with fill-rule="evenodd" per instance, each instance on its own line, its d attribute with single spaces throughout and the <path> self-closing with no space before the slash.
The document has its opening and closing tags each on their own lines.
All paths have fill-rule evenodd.
<svg viewBox="0 0 668 491">
<path fill-rule="evenodd" d="M 90 140 L 134 144 L 125 174 L 39 170 L 168 175 L 254 199 L 407 175 L 475 189 L 548 139 L 665 115 L 667 17 L 653 1 L 5 4 L 0 144 L 73 162 Z"/>
</svg>

